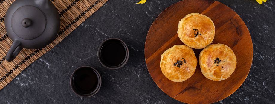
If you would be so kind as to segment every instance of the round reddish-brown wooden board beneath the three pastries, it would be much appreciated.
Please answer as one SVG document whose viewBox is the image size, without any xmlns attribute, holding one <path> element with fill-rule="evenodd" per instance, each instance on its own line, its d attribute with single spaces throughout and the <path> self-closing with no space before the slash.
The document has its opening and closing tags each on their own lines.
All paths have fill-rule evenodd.
<svg viewBox="0 0 275 104">
<path fill-rule="evenodd" d="M 170 81 L 161 73 L 161 54 L 174 45 L 184 44 L 178 38 L 178 22 L 187 14 L 196 12 L 214 22 L 216 29 L 212 44 L 229 46 L 237 57 L 236 70 L 226 80 L 205 78 L 199 64 L 195 73 L 181 83 Z M 193 50 L 198 59 L 202 49 Z M 183 0 L 168 7 L 152 23 L 145 42 L 145 59 L 152 79 L 170 97 L 184 103 L 214 103 L 228 97 L 245 81 L 253 59 L 253 45 L 245 23 L 226 5 L 213 0 Z"/>
</svg>

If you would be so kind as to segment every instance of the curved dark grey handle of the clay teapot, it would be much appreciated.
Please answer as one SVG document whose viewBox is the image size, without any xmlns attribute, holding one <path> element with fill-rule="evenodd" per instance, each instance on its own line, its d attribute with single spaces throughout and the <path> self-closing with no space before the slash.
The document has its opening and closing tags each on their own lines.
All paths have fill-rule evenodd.
<svg viewBox="0 0 275 104">
<path fill-rule="evenodd" d="M 13 61 L 13 59 L 15 59 L 15 57 L 18 55 L 18 53 L 22 50 L 22 47 L 20 47 L 21 43 L 18 40 L 14 40 L 13 44 L 11 45 L 7 55 L 6 55 L 6 60 L 8 62 Z"/>
</svg>

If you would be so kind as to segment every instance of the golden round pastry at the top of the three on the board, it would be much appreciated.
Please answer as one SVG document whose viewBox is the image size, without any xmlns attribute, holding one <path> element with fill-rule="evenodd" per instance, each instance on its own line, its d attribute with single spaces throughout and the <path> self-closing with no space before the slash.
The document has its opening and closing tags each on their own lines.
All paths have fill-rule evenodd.
<svg viewBox="0 0 275 104">
<path fill-rule="evenodd" d="M 193 29 L 198 30 L 195 31 Z M 195 34 L 197 36 L 195 36 Z M 212 43 L 214 36 L 215 25 L 213 21 L 205 15 L 191 13 L 179 21 L 178 37 L 185 45 L 191 48 L 205 48 Z"/>
</svg>

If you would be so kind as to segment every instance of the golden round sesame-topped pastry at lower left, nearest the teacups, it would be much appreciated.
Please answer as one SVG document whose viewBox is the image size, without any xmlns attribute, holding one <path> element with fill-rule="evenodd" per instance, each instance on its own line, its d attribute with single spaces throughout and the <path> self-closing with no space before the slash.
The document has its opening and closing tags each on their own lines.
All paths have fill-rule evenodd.
<svg viewBox="0 0 275 104">
<path fill-rule="evenodd" d="M 182 82 L 194 74 L 197 63 L 192 48 L 186 45 L 174 45 L 161 55 L 160 67 L 166 78 L 174 82 Z"/>
</svg>

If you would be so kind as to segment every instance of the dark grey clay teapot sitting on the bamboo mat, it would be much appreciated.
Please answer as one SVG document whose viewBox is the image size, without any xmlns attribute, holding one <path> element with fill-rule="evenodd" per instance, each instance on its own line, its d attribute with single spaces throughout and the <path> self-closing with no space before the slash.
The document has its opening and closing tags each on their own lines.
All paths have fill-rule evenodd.
<svg viewBox="0 0 275 104">
<path fill-rule="evenodd" d="M 6 55 L 12 61 L 22 50 L 43 48 L 59 31 L 60 16 L 49 0 L 16 0 L 7 10 L 5 29 L 13 41 Z"/>
</svg>

